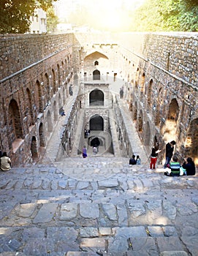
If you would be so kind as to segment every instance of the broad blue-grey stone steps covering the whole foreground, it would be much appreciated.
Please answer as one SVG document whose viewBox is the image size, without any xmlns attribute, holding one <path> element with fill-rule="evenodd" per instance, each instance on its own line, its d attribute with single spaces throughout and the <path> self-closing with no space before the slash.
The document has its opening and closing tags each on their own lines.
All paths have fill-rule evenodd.
<svg viewBox="0 0 198 256">
<path fill-rule="evenodd" d="M 1 172 L 1 256 L 197 256 L 198 176 L 117 157 Z"/>
</svg>

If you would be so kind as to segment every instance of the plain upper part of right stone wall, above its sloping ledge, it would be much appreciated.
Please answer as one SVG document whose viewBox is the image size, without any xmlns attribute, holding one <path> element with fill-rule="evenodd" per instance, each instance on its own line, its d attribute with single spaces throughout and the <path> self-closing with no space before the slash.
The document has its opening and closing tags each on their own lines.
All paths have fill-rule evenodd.
<svg viewBox="0 0 198 256">
<path fill-rule="evenodd" d="M 142 61 L 148 61 L 151 65 L 198 86 L 197 33 L 123 34 L 119 37 L 119 43 Z M 130 60 L 129 56 L 126 57 Z"/>
</svg>

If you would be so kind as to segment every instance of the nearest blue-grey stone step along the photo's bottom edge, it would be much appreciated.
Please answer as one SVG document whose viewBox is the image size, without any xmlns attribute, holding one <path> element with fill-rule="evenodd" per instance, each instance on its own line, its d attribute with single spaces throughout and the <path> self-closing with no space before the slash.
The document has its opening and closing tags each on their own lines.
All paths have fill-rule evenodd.
<svg viewBox="0 0 198 256">
<path fill-rule="evenodd" d="M 136 227 L 12 227 L 4 228 L 0 255 L 194 255 L 194 236 L 178 236 L 171 225 Z M 18 237 L 17 237 L 18 236 Z M 1 252 L 3 252 L 1 249 Z M 13 254 L 13 251 L 15 254 Z M 17 252 L 17 253 L 16 253 Z M 188 253 L 187 253 L 188 252 Z M 173 253 L 173 254 L 172 254 Z M 175 253 L 175 254 L 174 254 Z"/>
</svg>

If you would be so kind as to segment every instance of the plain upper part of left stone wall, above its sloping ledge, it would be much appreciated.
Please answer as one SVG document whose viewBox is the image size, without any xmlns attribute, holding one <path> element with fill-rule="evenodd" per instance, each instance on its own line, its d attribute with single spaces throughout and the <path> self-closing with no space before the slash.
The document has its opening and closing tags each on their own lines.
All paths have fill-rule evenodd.
<svg viewBox="0 0 198 256">
<path fill-rule="evenodd" d="M 73 34 L 0 36 L 0 80 L 73 45 Z"/>
</svg>

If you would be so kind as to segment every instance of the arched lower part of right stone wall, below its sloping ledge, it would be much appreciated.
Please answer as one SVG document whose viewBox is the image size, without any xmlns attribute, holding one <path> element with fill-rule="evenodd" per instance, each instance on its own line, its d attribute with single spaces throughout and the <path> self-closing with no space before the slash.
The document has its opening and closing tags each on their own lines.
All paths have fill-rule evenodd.
<svg viewBox="0 0 198 256">
<path fill-rule="evenodd" d="M 145 146 L 151 149 L 155 137 L 161 145 L 174 139 L 177 154 L 193 157 L 198 165 L 198 118 L 192 103 L 197 92 L 180 78 L 153 67 L 149 60 L 137 63 L 124 54 L 122 59 L 129 110 Z"/>
</svg>

